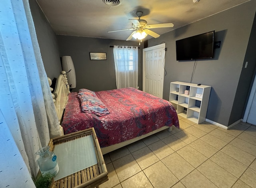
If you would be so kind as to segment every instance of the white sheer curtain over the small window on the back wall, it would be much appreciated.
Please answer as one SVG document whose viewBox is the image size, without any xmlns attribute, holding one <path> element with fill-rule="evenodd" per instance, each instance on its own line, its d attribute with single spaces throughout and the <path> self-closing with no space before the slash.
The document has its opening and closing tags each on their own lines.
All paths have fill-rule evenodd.
<svg viewBox="0 0 256 188">
<path fill-rule="evenodd" d="M 138 87 L 138 47 L 114 46 L 116 88 Z"/>
</svg>

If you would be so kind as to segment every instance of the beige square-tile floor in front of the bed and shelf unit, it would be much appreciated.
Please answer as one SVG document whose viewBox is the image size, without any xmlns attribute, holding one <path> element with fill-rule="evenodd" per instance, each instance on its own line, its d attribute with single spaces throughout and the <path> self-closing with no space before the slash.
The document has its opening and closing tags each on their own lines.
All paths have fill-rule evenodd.
<svg viewBox="0 0 256 188">
<path fill-rule="evenodd" d="M 179 119 L 180 129 L 105 154 L 100 188 L 256 188 L 256 126 Z"/>
</svg>

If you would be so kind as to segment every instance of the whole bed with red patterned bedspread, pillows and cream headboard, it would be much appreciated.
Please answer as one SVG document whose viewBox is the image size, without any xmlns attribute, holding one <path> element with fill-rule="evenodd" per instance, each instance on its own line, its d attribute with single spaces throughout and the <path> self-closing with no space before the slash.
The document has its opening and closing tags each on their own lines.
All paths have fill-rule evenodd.
<svg viewBox="0 0 256 188">
<path fill-rule="evenodd" d="M 171 131 L 172 125 L 179 128 L 176 110 L 170 102 L 138 89 L 80 89 L 70 93 L 62 71 L 54 95 L 58 117 L 63 114 L 64 134 L 94 127 L 102 154 L 164 129 Z"/>
</svg>

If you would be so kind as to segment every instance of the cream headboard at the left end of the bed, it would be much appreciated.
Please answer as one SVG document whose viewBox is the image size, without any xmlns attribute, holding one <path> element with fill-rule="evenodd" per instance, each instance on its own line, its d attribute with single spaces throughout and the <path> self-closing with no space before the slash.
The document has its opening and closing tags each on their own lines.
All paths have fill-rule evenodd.
<svg viewBox="0 0 256 188">
<path fill-rule="evenodd" d="M 51 85 L 50 78 L 48 78 L 48 81 L 49 81 L 49 84 Z M 50 89 L 52 91 L 52 88 L 50 88 Z M 66 103 L 68 102 L 68 93 L 70 93 L 69 85 L 68 85 L 68 79 L 66 77 L 66 72 L 62 71 L 61 74 L 58 77 L 58 80 L 56 82 L 55 90 L 52 94 L 52 98 L 53 98 L 53 101 L 54 101 L 54 105 L 55 105 L 56 113 L 57 113 L 57 116 L 58 116 L 59 124 L 60 124 L 60 121 L 62 119 L 62 115 L 64 113 Z M 60 125 L 60 131 L 62 132 L 62 135 L 64 135 L 61 125 Z"/>
</svg>

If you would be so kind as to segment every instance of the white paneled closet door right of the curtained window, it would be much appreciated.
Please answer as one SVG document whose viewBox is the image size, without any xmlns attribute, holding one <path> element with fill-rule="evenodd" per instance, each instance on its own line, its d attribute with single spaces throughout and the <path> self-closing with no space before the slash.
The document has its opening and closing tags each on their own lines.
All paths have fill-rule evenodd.
<svg viewBox="0 0 256 188">
<path fill-rule="evenodd" d="M 165 44 L 143 49 L 143 88 L 146 93 L 163 97 Z"/>
</svg>

